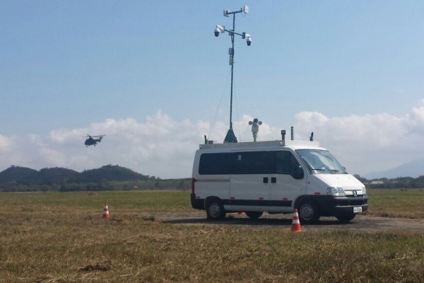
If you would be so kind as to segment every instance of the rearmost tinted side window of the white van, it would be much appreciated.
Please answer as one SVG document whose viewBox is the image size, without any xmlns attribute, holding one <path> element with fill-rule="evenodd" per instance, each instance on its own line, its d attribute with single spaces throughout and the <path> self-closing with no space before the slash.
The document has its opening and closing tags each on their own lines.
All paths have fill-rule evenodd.
<svg viewBox="0 0 424 283">
<path fill-rule="evenodd" d="M 231 154 L 202 154 L 200 156 L 200 175 L 228 175 L 231 168 Z"/>
</svg>

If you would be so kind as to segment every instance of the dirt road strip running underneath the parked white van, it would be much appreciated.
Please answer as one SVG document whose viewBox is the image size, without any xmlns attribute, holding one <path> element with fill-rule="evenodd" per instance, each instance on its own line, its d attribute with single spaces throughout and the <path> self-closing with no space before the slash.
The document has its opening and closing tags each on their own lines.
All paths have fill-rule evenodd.
<svg viewBox="0 0 424 283">
<path fill-rule="evenodd" d="M 267 214 L 261 218 L 252 220 L 246 215 L 237 213 L 227 214 L 225 219 L 219 221 L 209 221 L 206 219 L 206 212 L 194 211 L 190 213 L 150 213 L 143 214 L 144 217 L 165 224 L 191 224 L 191 225 L 232 225 L 249 226 L 252 229 L 290 229 L 292 224 L 292 214 Z M 317 224 L 302 225 L 302 231 L 329 231 L 329 230 L 349 230 L 349 231 L 416 231 L 424 232 L 424 219 L 403 219 L 375 217 L 367 215 L 357 215 L 355 219 L 347 224 L 341 224 L 334 217 L 322 217 Z"/>
</svg>

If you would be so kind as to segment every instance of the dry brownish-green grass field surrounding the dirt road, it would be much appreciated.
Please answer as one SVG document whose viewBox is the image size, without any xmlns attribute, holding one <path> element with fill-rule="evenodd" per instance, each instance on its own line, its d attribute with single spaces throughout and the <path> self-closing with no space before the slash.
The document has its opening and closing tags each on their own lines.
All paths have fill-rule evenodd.
<svg viewBox="0 0 424 283">
<path fill-rule="evenodd" d="M 368 215 L 424 218 L 423 190 L 368 192 Z M 0 282 L 423 282 L 423 233 L 164 224 L 146 212 L 194 209 L 187 191 L 1 193 Z"/>
</svg>

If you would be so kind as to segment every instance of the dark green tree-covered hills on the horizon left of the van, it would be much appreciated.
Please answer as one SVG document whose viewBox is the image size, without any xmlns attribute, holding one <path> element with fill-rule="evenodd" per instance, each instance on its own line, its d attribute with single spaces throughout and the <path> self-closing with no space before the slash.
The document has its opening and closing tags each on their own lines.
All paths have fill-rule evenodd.
<svg viewBox="0 0 424 283">
<path fill-rule="evenodd" d="M 162 180 L 121 166 L 102 166 L 78 173 L 66 168 L 34 169 L 11 166 L 0 172 L 0 192 L 78 190 L 188 190 L 189 178 Z"/>
</svg>

